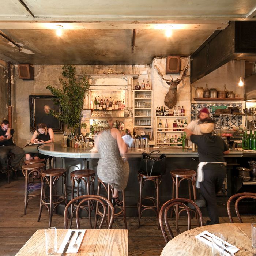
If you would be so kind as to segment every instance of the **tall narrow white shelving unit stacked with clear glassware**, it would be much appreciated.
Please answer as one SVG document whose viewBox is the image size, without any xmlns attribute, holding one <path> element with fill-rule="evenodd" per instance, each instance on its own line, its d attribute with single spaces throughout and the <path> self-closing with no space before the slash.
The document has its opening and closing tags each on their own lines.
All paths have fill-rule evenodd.
<svg viewBox="0 0 256 256">
<path fill-rule="evenodd" d="M 152 94 L 151 90 L 133 90 L 133 124 L 134 127 L 152 128 Z"/>
</svg>

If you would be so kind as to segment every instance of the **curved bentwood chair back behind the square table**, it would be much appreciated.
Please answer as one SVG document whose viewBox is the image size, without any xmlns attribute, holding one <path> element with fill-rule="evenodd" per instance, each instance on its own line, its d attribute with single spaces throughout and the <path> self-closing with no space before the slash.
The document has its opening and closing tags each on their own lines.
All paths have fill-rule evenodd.
<svg viewBox="0 0 256 256">
<path fill-rule="evenodd" d="M 110 222 L 109 222 L 109 225 L 108 225 L 108 229 L 112 228 L 112 224 L 113 224 L 113 220 L 114 220 L 114 207 L 113 207 L 112 203 L 103 196 L 83 195 L 83 196 L 78 196 L 78 197 L 72 199 L 71 201 L 68 202 L 67 206 L 65 207 L 65 210 L 64 210 L 64 226 L 65 226 L 65 229 L 69 228 L 69 225 L 68 225 L 68 208 L 69 208 L 69 206 L 71 206 L 72 204 L 77 205 L 77 207 L 76 207 L 76 226 L 77 226 L 78 229 L 80 229 L 79 210 L 80 210 L 80 208 L 83 208 L 84 203 L 91 202 L 91 201 L 96 201 L 97 203 L 101 204 L 102 209 L 103 209 L 103 214 L 102 214 L 101 223 L 99 224 L 99 229 L 102 228 L 102 225 L 103 225 L 103 223 L 106 219 L 106 216 L 107 216 L 106 205 L 110 209 L 110 214 L 108 214 L 108 216 L 110 216 Z"/>
</svg>

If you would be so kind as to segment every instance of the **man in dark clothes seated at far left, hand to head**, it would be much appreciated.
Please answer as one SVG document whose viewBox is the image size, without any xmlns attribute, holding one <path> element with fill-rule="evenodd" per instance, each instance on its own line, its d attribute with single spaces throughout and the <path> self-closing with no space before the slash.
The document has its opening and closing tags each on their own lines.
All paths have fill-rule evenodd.
<svg viewBox="0 0 256 256">
<path fill-rule="evenodd" d="M 10 164 L 13 170 L 16 170 L 16 165 L 25 155 L 22 148 L 14 145 L 12 140 L 13 134 L 14 130 L 9 127 L 9 121 L 3 120 L 0 127 L 0 161 L 2 165 L 2 172 L 6 172 L 7 170 L 8 153 L 13 153 L 15 155 L 15 158 Z"/>
</svg>

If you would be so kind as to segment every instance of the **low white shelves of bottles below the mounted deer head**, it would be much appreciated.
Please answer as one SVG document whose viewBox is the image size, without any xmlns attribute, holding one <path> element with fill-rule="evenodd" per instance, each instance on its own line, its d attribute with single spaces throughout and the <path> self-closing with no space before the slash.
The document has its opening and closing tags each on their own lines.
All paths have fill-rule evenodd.
<svg viewBox="0 0 256 256">
<path fill-rule="evenodd" d="M 162 127 L 158 127 L 159 122 L 161 119 L 161 123 L 162 123 Z M 166 137 L 168 139 L 168 135 L 169 135 L 169 139 L 171 139 L 172 135 L 175 136 L 180 136 L 181 138 L 181 134 L 183 133 L 185 127 L 173 127 L 173 123 L 174 120 L 186 120 L 188 123 L 188 116 L 156 116 L 155 118 L 155 127 L 156 127 L 156 131 L 157 131 L 157 145 L 160 146 L 166 146 L 169 147 L 171 145 L 171 147 L 182 147 L 182 142 L 159 142 L 159 137 L 161 139 L 161 135 L 164 136 L 164 133 L 166 133 Z M 168 128 L 165 128 L 165 123 L 168 123 Z M 162 130 L 162 131 L 161 131 Z M 173 131 L 173 130 L 177 130 L 177 131 Z M 159 135 L 159 136 L 158 136 Z"/>
</svg>

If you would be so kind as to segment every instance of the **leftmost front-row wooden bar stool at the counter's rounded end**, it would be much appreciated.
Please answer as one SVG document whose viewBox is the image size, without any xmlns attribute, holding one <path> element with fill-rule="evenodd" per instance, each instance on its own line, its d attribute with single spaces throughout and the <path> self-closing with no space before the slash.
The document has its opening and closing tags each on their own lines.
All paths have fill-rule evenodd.
<svg viewBox="0 0 256 256">
<path fill-rule="evenodd" d="M 40 182 L 35 182 L 33 180 L 34 171 L 41 171 L 45 168 L 44 163 L 32 163 L 30 165 L 23 165 L 22 166 L 22 173 L 25 177 L 25 193 L 24 193 L 24 215 L 27 213 L 27 204 L 29 200 L 35 196 L 40 196 L 40 193 L 29 195 L 31 192 L 40 189 L 40 187 L 34 186 L 36 183 L 40 184 Z M 32 176 L 32 181 L 30 181 L 30 177 Z"/>
</svg>

